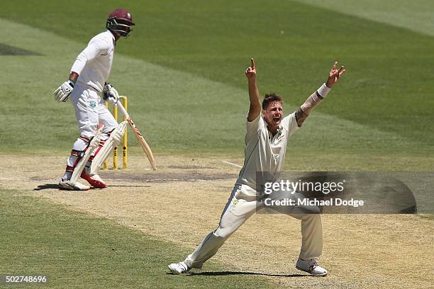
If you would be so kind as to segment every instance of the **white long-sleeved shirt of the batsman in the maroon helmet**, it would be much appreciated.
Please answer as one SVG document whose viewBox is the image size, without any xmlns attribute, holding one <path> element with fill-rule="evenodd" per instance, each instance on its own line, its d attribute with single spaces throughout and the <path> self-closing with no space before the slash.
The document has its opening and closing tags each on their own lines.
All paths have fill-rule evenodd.
<svg viewBox="0 0 434 289">
<path fill-rule="evenodd" d="M 109 30 L 92 38 L 72 64 L 71 72 L 79 74 L 77 82 L 101 92 L 106 79 L 109 78 L 114 47 L 115 38 Z"/>
</svg>

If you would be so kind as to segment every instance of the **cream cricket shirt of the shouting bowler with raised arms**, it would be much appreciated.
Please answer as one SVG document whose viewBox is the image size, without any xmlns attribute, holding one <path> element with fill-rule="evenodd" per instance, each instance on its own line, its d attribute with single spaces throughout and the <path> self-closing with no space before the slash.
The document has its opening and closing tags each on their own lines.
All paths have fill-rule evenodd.
<svg viewBox="0 0 434 289">
<path fill-rule="evenodd" d="M 252 188 L 252 191 L 250 188 L 245 188 L 247 189 L 243 190 L 246 191 L 245 193 L 256 194 L 257 171 L 267 171 L 273 176 L 279 176 L 283 169 L 288 137 L 298 129 L 295 113 L 282 120 L 279 131 L 274 137 L 267 130 L 267 123 L 262 114 L 251 122 L 247 121 L 244 166 L 236 182 L 238 185 Z"/>
</svg>

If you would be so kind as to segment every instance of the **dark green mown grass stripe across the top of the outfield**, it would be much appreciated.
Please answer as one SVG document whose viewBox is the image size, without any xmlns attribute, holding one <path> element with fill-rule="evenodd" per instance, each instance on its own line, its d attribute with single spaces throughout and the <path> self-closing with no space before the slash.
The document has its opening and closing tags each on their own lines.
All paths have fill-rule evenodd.
<svg viewBox="0 0 434 289">
<path fill-rule="evenodd" d="M 114 0 L 104 2 L 104 6 L 84 0 L 75 3 L 74 11 L 67 11 L 53 0 L 45 0 L 38 6 L 16 0 L 4 4 L 0 17 L 18 19 L 85 45 L 104 27 L 106 15 L 118 3 Z M 428 4 L 426 10 L 433 7 Z M 345 81 L 333 92 L 339 100 L 321 106 L 318 111 L 418 140 L 423 146 L 412 147 L 416 153 L 429 148 L 434 141 L 434 135 L 425 133 L 434 121 L 429 79 L 434 67 L 434 51 L 430 49 L 434 39 L 429 36 L 296 1 L 271 0 L 265 4 L 258 0 L 186 0 L 179 5 L 174 1 L 144 4 L 136 0 L 128 1 L 126 8 L 133 12 L 137 26 L 130 40 L 118 45 L 117 53 L 238 89 L 245 89 L 243 69 L 248 58 L 255 56 L 262 93 L 277 91 L 292 105 L 304 101 L 306 91 L 323 81 L 331 62 L 339 59 L 348 72 Z M 60 43 L 48 44 L 65 50 Z M 65 53 L 68 69 L 72 62 L 69 59 Z M 141 78 L 134 81 L 148 85 Z M 164 85 L 171 83 L 166 80 Z M 197 101 L 197 94 L 192 95 L 194 98 L 182 94 L 184 86 L 194 84 L 173 88 L 170 98 L 158 97 L 166 103 Z M 205 97 L 207 107 L 213 108 L 208 115 L 213 120 L 224 119 L 233 106 L 245 111 L 244 97 L 225 93 L 221 91 L 218 95 L 220 106 Z M 207 94 L 208 91 L 201 91 L 199 96 Z M 232 98 L 230 107 L 226 106 L 228 98 Z M 204 113 L 210 111 L 199 108 Z M 196 108 L 180 112 L 185 116 L 201 111 Z M 222 123 L 233 127 L 232 119 Z M 201 130 L 213 129 L 206 122 L 194 125 Z M 183 132 L 186 135 L 188 131 Z M 224 133 L 216 135 L 212 141 L 217 145 L 226 141 Z M 204 147 L 208 145 L 212 144 Z"/>
</svg>

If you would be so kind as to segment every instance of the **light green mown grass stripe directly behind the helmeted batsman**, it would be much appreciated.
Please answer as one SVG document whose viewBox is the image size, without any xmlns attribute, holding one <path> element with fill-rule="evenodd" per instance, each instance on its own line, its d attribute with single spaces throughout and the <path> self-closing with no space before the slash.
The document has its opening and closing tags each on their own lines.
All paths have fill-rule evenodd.
<svg viewBox="0 0 434 289">
<path fill-rule="evenodd" d="M 1 94 L 10 101 L 0 108 L 0 119 L 8 124 L 0 130 L 1 146 L 12 152 L 66 152 L 77 137 L 74 113 L 70 103 L 53 100 L 52 90 L 67 76 L 82 43 L 4 19 L 0 24 L 18 33 L 5 35 L 2 41 L 43 55 L 2 58 L 10 71 L 0 79 Z M 33 77 L 35 72 L 38 79 Z M 118 90 L 130 97 L 130 115 L 156 152 L 242 152 L 248 108 L 245 89 L 123 55 L 116 55 L 111 75 Z M 242 71 L 240 79 L 244 81 Z M 306 89 L 305 96 L 316 86 Z M 334 92 L 322 106 L 338 105 L 340 98 L 350 97 Z M 286 113 L 295 108 L 285 105 Z M 132 139 L 129 143 L 137 146 Z M 347 153 L 352 149 L 404 153 L 408 147 L 423 147 L 417 140 L 319 110 L 291 139 L 294 149 L 316 149 L 318 145 Z"/>
</svg>

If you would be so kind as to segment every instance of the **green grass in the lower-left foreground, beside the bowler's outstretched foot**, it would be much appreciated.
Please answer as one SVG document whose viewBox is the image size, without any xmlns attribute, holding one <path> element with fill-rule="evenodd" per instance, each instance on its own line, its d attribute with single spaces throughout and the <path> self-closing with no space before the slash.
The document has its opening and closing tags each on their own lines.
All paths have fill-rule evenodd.
<svg viewBox="0 0 434 289">
<path fill-rule="evenodd" d="M 19 191 L 0 196 L 0 275 L 45 274 L 48 288 L 274 287 L 260 276 L 167 274 L 168 263 L 185 257 L 177 244 Z M 210 261 L 207 268 L 223 267 Z"/>
</svg>

